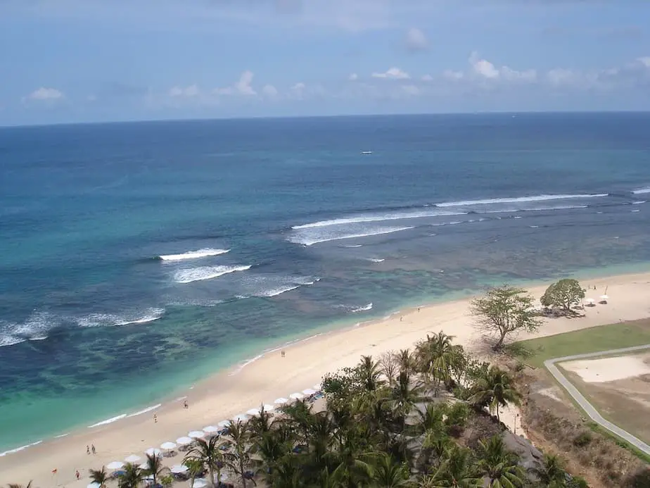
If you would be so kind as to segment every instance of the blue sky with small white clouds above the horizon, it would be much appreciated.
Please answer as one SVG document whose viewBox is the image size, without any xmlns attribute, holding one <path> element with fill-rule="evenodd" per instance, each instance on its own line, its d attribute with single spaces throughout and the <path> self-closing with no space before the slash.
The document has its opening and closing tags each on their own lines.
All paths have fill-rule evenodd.
<svg viewBox="0 0 650 488">
<path fill-rule="evenodd" d="M 650 110 L 644 0 L 0 0 L 0 125 Z"/>
</svg>

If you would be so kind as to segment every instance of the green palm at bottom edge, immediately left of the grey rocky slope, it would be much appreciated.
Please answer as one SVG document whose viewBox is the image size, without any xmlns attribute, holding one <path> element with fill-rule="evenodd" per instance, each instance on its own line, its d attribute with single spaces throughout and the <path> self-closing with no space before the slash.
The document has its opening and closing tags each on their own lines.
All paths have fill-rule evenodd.
<svg viewBox="0 0 650 488">
<path fill-rule="evenodd" d="M 478 443 L 482 451 L 478 469 L 487 477 L 489 488 L 523 487 L 525 473 L 517 464 L 516 454 L 506 450 L 502 437 L 495 435 Z"/>
</svg>

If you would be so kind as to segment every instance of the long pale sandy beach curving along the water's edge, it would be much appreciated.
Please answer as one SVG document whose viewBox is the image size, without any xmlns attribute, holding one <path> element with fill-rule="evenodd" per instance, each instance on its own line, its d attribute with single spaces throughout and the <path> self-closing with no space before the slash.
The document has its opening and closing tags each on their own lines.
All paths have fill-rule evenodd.
<svg viewBox="0 0 650 488">
<path fill-rule="evenodd" d="M 548 284 L 529 290 L 539 297 Z M 546 320 L 535 337 L 650 316 L 650 273 L 583 280 L 581 284 L 592 288 L 596 285 L 596 291 L 587 291 L 587 297 L 594 299 L 604 294 L 607 287 L 609 303 L 587 307 L 585 318 Z M 272 403 L 279 396 L 312 387 L 324 373 L 355 365 L 362 354 L 378 356 L 385 351 L 412 348 L 428 332 L 444 330 L 470 351 L 481 351 L 483 341 L 472 327 L 468 305 L 469 299 L 462 299 L 412 308 L 384 320 L 287 346 L 284 357 L 280 351 L 274 351 L 244 368 L 232 368 L 196 384 L 185 394 L 187 409 L 183 399 L 167 400 L 155 411 L 99 427 L 82 428 L 66 437 L 0 457 L 0 484 L 27 484 L 34 480 L 34 487 L 39 488 L 85 487 L 89 483 L 89 468 L 99 469 L 130 454 L 144 458 L 144 450 L 149 447 L 174 442 L 190 430 L 200 430 L 261 403 Z M 157 423 L 153 413 L 157 415 Z M 86 453 L 90 444 L 96 446 L 94 456 Z M 172 465 L 180 461 L 181 456 L 177 456 L 166 458 L 165 463 Z M 76 470 L 82 475 L 79 481 L 75 479 Z"/>
</svg>

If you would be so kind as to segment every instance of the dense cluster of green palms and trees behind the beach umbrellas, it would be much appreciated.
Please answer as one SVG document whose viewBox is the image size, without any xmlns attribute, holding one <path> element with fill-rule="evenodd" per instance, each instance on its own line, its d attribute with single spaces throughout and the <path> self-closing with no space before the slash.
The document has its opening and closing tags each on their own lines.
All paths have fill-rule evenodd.
<svg viewBox="0 0 650 488">
<path fill-rule="evenodd" d="M 466 445 L 468 423 L 487 418 L 485 408 L 498 417 L 521 394 L 507 373 L 471 358 L 442 332 L 414 351 L 378 361 L 362 356 L 355 368 L 326 375 L 323 389 L 324 411 L 296 401 L 280 415 L 261 411 L 248 423 L 231 421 L 227 435 L 198 440 L 184 463 L 191 473 L 207 472 L 213 485 L 228 469 L 243 488 L 586 486 L 554 456 L 524 470 L 499 423 L 499 433 Z M 139 486 L 136 477 L 120 479 L 120 488 Z"/>
</svg>

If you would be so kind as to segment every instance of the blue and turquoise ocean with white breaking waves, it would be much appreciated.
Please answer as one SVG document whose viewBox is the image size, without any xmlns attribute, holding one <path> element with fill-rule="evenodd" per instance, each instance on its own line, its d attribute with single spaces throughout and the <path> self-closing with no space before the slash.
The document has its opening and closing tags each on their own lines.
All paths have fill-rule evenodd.
<svg viewBox="0 0 650 488">
<path fill-rule="evenodd" d="M 648 113 L 1 128 L 0 451 L 404 306 L 650 269 L 649 133 Z"/>
</svg>

